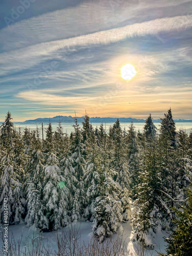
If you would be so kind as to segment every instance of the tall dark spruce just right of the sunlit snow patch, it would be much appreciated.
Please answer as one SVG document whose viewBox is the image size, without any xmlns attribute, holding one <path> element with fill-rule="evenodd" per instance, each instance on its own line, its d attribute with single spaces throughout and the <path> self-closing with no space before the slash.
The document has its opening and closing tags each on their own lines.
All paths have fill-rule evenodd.
<svg viewBox="0 0 192 256">
<path fill-rule="evenodd" d="M 146 119 L 151 119 L 151 115 Z M 145 156 L 140 171 L 140 183 L 134 187 L 136 192 L 134 201 L 133 219 L 135 240 L 139 240 L 143 247 L 152 247 L 151 238 L 157 228 L 161 228 L 160 209 L 164 206 L 161 198 L 162 182 L 160 179 L 157 159 L 158 144 L 153 121 L 145 125 Z M 163 204 L 163 205 L 162 205 Z"/>
</svg>

